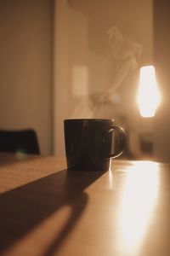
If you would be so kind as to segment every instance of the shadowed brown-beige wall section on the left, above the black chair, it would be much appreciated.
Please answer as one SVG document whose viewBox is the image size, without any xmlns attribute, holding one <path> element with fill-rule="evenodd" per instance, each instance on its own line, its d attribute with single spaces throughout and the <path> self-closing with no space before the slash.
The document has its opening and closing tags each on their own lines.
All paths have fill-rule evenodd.
<svg viewBox="0 0 170 256">
<path fill-rule="evenodd" d="M 0 128 L 31 127 L 52 152 L 52 1 L 0 1 Z"/>
</svg>

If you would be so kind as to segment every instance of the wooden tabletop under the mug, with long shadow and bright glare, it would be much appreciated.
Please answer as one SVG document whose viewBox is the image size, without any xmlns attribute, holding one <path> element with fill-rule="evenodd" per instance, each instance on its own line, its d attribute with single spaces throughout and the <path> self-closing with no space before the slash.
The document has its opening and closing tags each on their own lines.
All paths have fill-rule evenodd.
<svg viewBox="0 0 170 256">
<path fill-rule="evenodd" d="M 0 156 L 0 254 L 169 256 L 170 166 L 114 160 L 67 172 L 54 156 Z"/>
</svg>

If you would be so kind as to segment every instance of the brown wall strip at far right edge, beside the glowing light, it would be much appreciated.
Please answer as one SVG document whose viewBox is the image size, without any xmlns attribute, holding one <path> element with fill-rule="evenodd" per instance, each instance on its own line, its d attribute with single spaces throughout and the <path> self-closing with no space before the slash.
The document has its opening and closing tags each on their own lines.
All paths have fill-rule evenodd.
<svg viewBox="0 0 170 256">
<path fill-rule="evenodd" d="M 170 161 L 170 3 L 167 0 L 154 1 L 154 52 L 157 79 L 159 80 L 162 102 L 156 114 L 154 149 L 156 160 Z"/>
</svg>

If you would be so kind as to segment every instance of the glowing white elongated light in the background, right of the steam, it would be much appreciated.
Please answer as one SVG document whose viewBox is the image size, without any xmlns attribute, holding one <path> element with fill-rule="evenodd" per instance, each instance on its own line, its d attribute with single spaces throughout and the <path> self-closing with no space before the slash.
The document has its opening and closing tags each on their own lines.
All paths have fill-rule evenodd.
<svg viewBox="0 0 170 256">
<path fill-rule="evenodd" d="M 156 84 L 155 67 L 140 68 L 138 104 L 142 117 L 153 117 L 161 102 L 161 95 Z"/>
</svg>

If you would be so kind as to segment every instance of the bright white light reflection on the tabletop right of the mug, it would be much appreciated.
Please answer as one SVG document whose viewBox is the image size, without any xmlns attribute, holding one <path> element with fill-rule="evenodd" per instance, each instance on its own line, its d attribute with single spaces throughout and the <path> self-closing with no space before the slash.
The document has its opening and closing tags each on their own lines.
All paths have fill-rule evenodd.
<svg viewBox="0 0 170 256">
<path fill-rule="evenodd" d="M 119 245 L 127 255 L 137 253 L 152 220 L 158 194 L 159 169 L 155 162 L 139 161 L 128 169 L 118 212 Z"/>
</svg>

